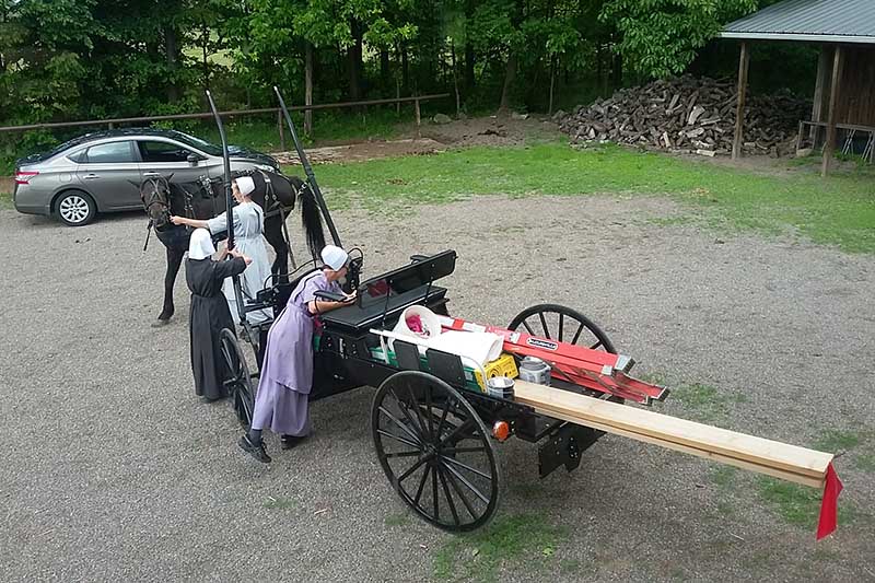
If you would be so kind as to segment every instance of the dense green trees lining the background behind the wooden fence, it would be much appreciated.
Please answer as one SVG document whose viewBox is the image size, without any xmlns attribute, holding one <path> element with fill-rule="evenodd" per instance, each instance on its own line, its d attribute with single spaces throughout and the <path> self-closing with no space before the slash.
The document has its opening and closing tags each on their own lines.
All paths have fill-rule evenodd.
<svg viewBox="0 0 875 583">
<path fill-rule="evenodd" d="M 684 71 L 773 0 L 0 0 L 0 123 L 444 92 L 546 109 Z M 722 58 L 722 57 L 721 57 Z M 576 93 L 574 93 L 576 92 Z"/>
</svg>

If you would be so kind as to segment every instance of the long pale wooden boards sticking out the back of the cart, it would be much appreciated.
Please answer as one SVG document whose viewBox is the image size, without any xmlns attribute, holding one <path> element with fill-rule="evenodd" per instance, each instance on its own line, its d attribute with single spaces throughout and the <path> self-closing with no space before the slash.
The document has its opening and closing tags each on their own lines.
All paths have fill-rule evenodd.
<svg viewBox="0 0 875 583">
<path fill-rule="evenodd" d="M 538 412 L 777 478 L 822 487 L 832 454 L 520 381 L 515 400 Z"/>
</svg>

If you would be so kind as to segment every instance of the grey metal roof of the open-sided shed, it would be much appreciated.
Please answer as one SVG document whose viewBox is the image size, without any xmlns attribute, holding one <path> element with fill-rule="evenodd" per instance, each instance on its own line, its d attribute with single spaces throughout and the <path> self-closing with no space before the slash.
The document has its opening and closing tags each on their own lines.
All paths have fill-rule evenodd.
<svg viewBox="0 0 875 583">
<path fill-rule="evenodd" d="M 720 36 L 875 44 L 875 0 L 784 0 L 727 24 Z"/>
</svg>

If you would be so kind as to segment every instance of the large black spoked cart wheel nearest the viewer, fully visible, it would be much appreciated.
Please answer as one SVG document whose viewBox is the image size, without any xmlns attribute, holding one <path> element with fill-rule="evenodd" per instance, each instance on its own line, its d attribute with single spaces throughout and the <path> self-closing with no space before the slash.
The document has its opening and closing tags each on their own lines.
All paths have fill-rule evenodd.
<svg viewBox="0 0 875 583">
<path fill-rule="evenodd" d="M 452 532 L 489 522 L 499 468 L 486 425 L 457 390 L 427 373 L 396 373 L 374 395 L 371 429 L 386 477 L 419 516 Z"/>
</svg>

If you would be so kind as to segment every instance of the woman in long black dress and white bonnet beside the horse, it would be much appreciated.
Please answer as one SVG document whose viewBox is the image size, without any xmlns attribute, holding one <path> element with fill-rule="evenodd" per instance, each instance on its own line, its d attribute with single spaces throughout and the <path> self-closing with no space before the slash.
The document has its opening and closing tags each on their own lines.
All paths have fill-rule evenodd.
<svg viewBox="0 0 875 583">
<path fill-rule="evenodd" d="M 213 260 L 215 247 L 210 232 L 196 229 L 188 245 L 185 280 L 191 290 L 191 311 L 188 330 L 191 338 L 191 372 L 195 375 L 195 394 L 207 400 L 228 396 L 222 375 L 220 335 L 222 328 L 234 330 L 234 322 L 222 294 L 222 282 L 231 276 L 243 273 L 252 263 L 235 250 L 222 248 Z M 225 261 L 231 255 L 233 259 Z"/>
</svg>

